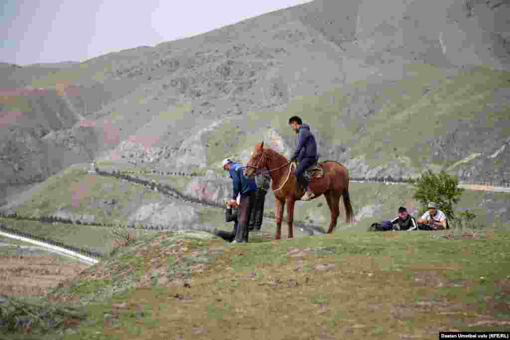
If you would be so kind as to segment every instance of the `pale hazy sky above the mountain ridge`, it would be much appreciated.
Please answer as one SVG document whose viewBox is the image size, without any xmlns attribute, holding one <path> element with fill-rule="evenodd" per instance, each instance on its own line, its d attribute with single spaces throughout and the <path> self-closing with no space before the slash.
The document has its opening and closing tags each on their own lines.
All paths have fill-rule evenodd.
<svg viewBox="0 0 510 340">
<path fill-rule="evenodd" d="M 0 0 L 0 62 L 84 61 L 310 0 Z"/>
</svg>

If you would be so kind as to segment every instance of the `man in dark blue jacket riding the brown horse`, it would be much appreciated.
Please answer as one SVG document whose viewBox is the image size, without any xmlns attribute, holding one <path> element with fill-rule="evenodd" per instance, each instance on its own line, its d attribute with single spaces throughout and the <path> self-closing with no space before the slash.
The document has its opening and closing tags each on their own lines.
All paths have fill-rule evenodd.
<svg viewBox="0 0 510 340">
<path fill-rule="evenodd" d="M 310 132 L 310 125 L 303 124 L 301 118 L 292 116 L 289 119 L 289 124 L 298 135 L 296 150 L 291 161 L 298 161 L 295 175 L 297 181 L 303 187 L 303 191 L 305 191 L 301 200 L 308 201 L 314 198 L 315 194 L 308 188 L 309 182 L 304 176 L 304 171 L 317 164 L 317 143 L 314 135 Z"/>
</svg>

